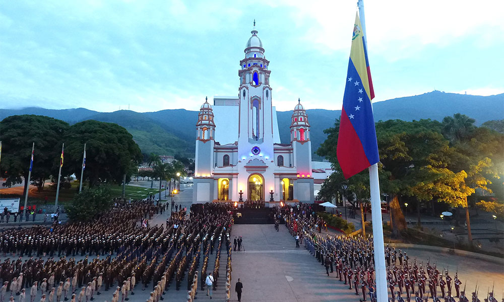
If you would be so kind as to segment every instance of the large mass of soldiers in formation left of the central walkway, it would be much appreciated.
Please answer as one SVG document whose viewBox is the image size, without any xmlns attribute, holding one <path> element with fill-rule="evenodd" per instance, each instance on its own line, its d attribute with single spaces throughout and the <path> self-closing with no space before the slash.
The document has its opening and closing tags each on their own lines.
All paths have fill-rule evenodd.
<svg viewBox="0 0 504 302">
<path fill-rule="evenodd" d="M 208 243 L 213 249 L 217 238 L 230 232 L 231 214 L 228 205 L 206 204 L 195 207 L 190 217 L 182 209 L 173 212 L 166 229 L 164 225 L 140 228 L 138 222 L 160 207 L 116 200 L 110 211 L 89 223 L 57 224 L 52 230 L 42 226 L 4 230 L 0 234 L 0 251 L 6 256 L 0 260 L 1 302 L 7 302 L 11 291 L 24 299 L 24 288 L 29 286 L 30 302 L 48 291 L 49 302 L 68 300 L 71 287 L 72 294 L 82 288 L 73 299 L 88 302 L 102 287 L 108 290 L 115 284 L 124 286 L 111 298 L 118 300 L 120 292 L 121 300 L 127 301 L 134 294 L 137 276 L 147 282 L 144 287 L 153 281 L 155 297 L 162 300 L 175 273 L 183 276 L 187 268 L 195 267 L 197 245 Z M 16 254 L 18 259 L 7 257 Z M 21 255 L 29 259 L 23 262 Z M 187 259 L 185 267 L 179 267 L 181 256 Z M 20 297 L 20 302 L 25 301 Z"/>
</svg>

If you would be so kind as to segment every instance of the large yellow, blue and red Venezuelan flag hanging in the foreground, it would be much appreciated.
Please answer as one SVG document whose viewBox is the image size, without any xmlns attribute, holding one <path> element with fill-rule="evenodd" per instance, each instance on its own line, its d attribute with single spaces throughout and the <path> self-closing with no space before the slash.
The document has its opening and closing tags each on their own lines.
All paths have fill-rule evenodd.
<svg viewBox="0 0 504 302">
<path fill-rule="evenodd" d="M 371 106 L 373 98 L 365 39 L 356 14 L 336 147 L 338 162 L 345 178 L 380 161 Z"/>
</svg>

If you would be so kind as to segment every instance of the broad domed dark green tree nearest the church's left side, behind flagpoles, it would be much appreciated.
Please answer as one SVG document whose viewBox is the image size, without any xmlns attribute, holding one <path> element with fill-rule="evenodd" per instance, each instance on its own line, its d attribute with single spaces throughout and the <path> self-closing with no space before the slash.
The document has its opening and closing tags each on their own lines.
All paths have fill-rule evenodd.
<svg viewBox="0 0 504 302">
<path fill-rule="evenodd" d="M 65 136 L 65 164 L 70 167 L 67 174 L 80 176 L 84 143 L 84 179 L 89 180 L 90 187 L 99 182 L 120 184 L 124 174 L 129 182 L 138 171 L 142 153 L 133 136 L 117 124 L 87 120 L 72 125 Z"/>
</svg>

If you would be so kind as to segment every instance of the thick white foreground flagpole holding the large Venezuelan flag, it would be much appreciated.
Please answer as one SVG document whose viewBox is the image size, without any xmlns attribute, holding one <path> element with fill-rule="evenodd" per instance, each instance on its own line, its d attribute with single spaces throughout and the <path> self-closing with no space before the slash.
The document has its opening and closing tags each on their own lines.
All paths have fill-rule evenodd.
<svg viewBox="0 0 504 302">
<path fill-rule="evenodd" d="M 364 18 L 364 0 L 358 0 L 360 24 L 367 47 L 366 22 Z M 372 107 L 372 103 L 371 103 Z M 376 300 L 388 302 L 387 270 L 385 266 L 385 247 L 383 240 L 382 205 L 380 198 L 380 181 L 378 164 L 369 167 L 369 188 L 371 195 L 371 219 L 373 225 L 374 263 L 376 275 Z"/>
</svg>

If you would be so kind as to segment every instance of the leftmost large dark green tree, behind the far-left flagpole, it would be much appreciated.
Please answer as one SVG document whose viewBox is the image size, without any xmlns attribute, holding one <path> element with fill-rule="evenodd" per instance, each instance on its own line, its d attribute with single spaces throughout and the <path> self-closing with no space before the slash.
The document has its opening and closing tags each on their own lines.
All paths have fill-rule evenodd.
<svg viewBox="0 0 504 302">
<path fill-rule="evenodd" d="M 31 181 L 41 190 L 51 174 L 57 174 L 62 138 L 69 124 L 39 115 L 13 115 L 0 123 L 2 140 L 1 177 L 6 186 L 28 178 L 31 148 L 35 142 Z M 25 184 L 26 193 L 27 184 Z"/>
</svg>

